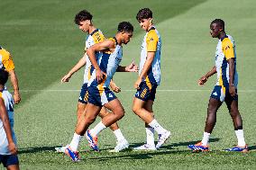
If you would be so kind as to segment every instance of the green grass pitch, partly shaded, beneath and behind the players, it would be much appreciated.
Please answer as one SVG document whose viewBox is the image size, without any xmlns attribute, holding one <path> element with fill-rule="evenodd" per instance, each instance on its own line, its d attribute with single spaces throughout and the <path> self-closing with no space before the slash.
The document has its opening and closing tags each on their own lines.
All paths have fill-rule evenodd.
<svg viewBox="0 0 256 170">
<path fill-rule="evenodd" d="M 256 169 L 256 1 L 8 0 L 1 1 L 0 6 L 0 44 L 14 56 L 23 97 L 22 103 L 15 106 L 21 169 Z M 83 70 L 69 84 L 59 83 L 83 55 L 86 35 L 78 31 L 74 15 L 87 9 L 94 14 L 96 27 L 107 37 L 114 36 L 118 22 L 132 22 L 133 39 L 123 47 L 125 66 L 140 59 L 144 32 L 135 15 L 142 7 L 152 9 L 163 41 L 162 80 L 154 112 L 172 136 L 155 152 L 130 149 L 109 153 L 115 139 L 111 130 L 105 130 L 99 136 L 101 152 L 93 152 L 84 140 L 80 145 L 82 160 L 72 163 L 69 157 L 55 153 L 54 147 L 72 139 L 82 85 Z M 197 79 L 214 66 L 217 40 L 210 37 L 209 23 L 215 18 L 224 19 L 226 32 L 236 41 L 239 107 L 251 149 L 248 154 L 222 151 L 236 144 L 224 105 L 217 114 L 211 151 L 195 154 L 187 149 L 187 145 L 202 138 L 207 102 L 215 85 L 215 77 L 211 77 L 206 86 L 197 86 Z M 125 109 L 125 116 L 118 123 L 131 148 L 145 141 L 143 122 L 131 110 L 136 76 L 114 76 L 123 90 L 117 96 Z M 0 165 L 0 169 L 4 167 Z"/>
</svg>

